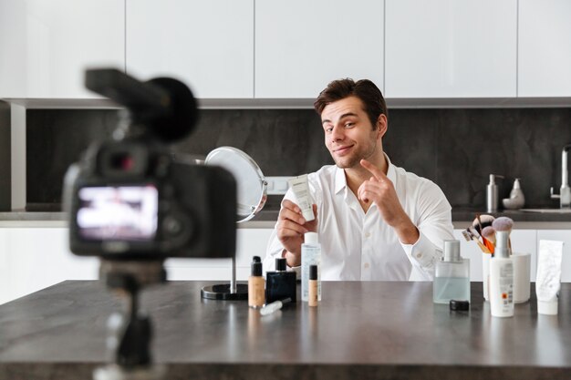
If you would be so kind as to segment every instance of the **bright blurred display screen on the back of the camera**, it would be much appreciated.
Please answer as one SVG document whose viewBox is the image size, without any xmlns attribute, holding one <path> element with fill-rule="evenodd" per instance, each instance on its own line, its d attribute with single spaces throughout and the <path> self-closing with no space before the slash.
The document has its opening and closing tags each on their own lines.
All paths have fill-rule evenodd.
<svg viewBox="0 0 571 380">
<path fill-rule="evenodd" d="M 78 191 L 79 235 L 87 240 L 151 241 L 158 224 L 159 191 L 152 185 L 86 187 Z"/>
</svg>

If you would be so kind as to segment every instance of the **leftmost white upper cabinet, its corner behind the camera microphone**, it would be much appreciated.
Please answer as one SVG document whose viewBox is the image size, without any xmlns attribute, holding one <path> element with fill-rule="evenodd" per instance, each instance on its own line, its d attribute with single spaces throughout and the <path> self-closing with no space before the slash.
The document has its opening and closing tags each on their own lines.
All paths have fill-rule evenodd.
<svg viewBox="0 0 571 380">
<path fill-rule="evenodd" d="M 87 67 L 125 67 L 124 0 L 0 0 L 0 98 L 100 98 Z"/>
</svg>

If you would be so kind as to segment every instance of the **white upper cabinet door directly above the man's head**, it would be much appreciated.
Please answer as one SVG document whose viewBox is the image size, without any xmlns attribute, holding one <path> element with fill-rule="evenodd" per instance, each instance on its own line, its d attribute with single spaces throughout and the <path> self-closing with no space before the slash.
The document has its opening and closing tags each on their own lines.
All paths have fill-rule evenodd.
<svg viewBox="0 0 571 380">
<path fill-rule="evenodd" d="M 342 77 L 383 89 L 383 2 L 255 3 L 255 98 L 317 98 Z"/>
</svg>

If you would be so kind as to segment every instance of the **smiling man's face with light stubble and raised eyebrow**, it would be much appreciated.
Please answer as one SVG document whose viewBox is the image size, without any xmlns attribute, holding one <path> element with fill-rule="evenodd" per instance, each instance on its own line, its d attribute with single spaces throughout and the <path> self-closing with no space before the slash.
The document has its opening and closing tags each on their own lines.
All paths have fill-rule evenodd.
<svg viewBox="0 0 571 380">
<path fill-rule="evenodd" d="M 342 169 L 359 167 L 361 159 L 373 159 L 382 149 L 380 138 L 385 125 L 377 123 L 373 129 L 369 116 L 359 98 L 348 97 L 330 103 L 321 112 L 321 123 L 325 131 L 325 145 Z"/>
</svg>

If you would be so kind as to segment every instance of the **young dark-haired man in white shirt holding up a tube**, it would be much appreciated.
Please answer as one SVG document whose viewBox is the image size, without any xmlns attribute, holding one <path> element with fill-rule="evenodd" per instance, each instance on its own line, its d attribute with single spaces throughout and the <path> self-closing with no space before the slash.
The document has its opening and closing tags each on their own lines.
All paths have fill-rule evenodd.
<svg viewBox="0 0 571 380">
<path fill-rule="evenodd" d="M 431 280 L 442 241 L 453 239 L 451 206 L 441 189 L 390 163 L 382 137 L 387 108 L 369 80 L 329 83 L 314 104 L 336 165 L 308 175 L 315 221 L 306 221 L 291 190 L 268 243 L 276 257 L 301 265 L 304 233 L 317 231 L 323 280 Z"/>
</svg>

